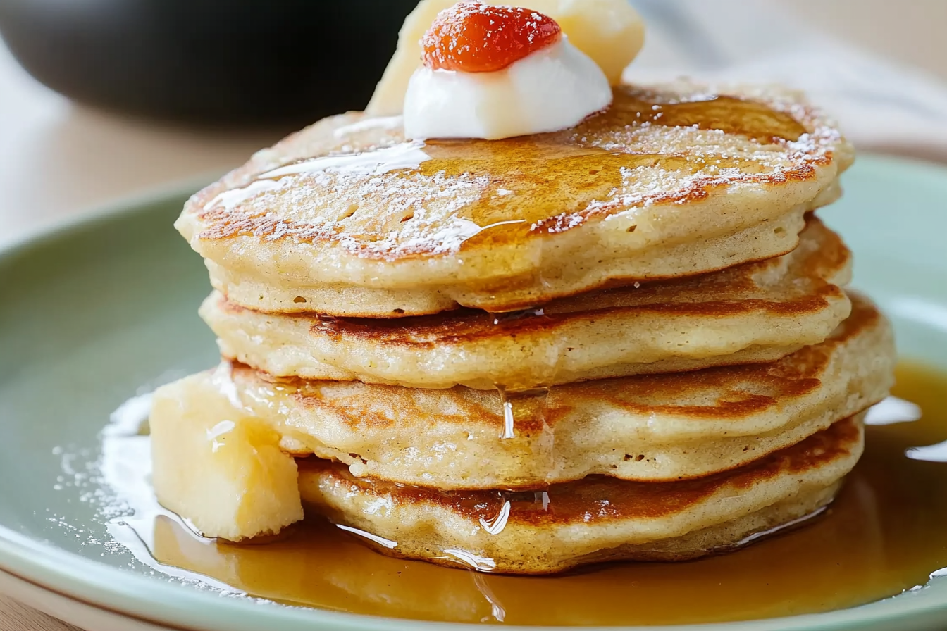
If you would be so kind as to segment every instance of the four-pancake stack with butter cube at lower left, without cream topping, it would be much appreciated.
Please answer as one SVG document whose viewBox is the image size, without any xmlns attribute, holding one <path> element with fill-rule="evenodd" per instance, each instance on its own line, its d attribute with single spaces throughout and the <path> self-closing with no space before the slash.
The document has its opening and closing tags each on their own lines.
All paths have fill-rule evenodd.
<svg viewBox="0 0 947 631">
<path fill-rule="evenodd" d="M 224 359 L 155 394 L 159 500 L 210 536 L 305 505 L 388 553 L 525 573 L 817 514 L 894 361 L 812 213 L 852 152 L 795 94 L 725 94 L 618 86 L 500 141 L 344 114 L 195 195 L 176 225 Z"/>
</svg>

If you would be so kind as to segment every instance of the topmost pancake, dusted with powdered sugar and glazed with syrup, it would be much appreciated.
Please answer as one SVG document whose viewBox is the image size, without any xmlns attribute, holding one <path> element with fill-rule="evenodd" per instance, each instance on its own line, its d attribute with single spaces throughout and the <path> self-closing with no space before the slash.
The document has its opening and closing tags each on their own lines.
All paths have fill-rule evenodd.
<svg viewBox="0 0 947 631">
<path fill-rule="evenodd" d="M 576 128 L 497 141 L 333 116 L 197 193 L 175 226 L 243 307 L 505 312 L 786 254 L 851 160 L 795 93 L 622 85 Z"/>
</svg>

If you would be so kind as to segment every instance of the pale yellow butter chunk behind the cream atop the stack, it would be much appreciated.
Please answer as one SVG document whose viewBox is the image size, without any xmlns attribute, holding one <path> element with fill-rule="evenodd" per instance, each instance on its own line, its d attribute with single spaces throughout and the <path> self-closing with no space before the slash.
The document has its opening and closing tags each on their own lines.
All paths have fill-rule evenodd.
<svg viewBox="0 0 947 631">
<path fill-rule="evenodd" d="M 421 0 L 399 33 L 398 48 L 366 108 L 372 116 L 402 114 L 404 96 L 421 67 L 420 40 L 438 13 L 456 0 Z M 569 42 L 595 61 L 612 85 L 644 44 L 644 23 L 627 0 L 484 0 L 485 5 L 516 5 L 545 13 L 562 27 Z"/>
</svg>

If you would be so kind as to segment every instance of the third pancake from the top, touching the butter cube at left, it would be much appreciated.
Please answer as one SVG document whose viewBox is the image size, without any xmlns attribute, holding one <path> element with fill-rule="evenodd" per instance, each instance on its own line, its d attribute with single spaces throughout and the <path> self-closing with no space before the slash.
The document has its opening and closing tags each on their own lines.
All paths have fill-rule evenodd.
<svg viewBox="0 0 947 631">
<path fill-rule="evenodd" d="M 677 480 L 740 466 L 884 398 L 891 329 L 864 298 L 853 305 L 829 340 L 776 362 L 556 386 L 512 397 L 509 414 L 497 392 L 461 386 L 277 379 L 227 364 L 216 378 L 284 451 L 359 477 L 440 489 Z"/>
</svg>

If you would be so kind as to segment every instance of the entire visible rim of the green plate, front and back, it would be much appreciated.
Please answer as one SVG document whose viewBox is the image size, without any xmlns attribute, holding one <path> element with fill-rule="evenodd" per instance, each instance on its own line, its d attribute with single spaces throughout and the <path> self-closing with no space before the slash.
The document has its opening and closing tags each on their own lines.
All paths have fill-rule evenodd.
<svg viewBox="0 0 947 631">
<path fill-rule="evenodd" d="M 934 178 L 947 185 L 947 166 L 924 160 L 860 154 L 859 163 L 888 167 L 899 175 Z M 192 194 L 208 182 L 208 177 L 170 183 L 142 193 L 101 204 L 76 215 L 57 219 L 37 230 L 0 245 L 0 265 L 9 258 L 70 233 L 88 229 L 99 222 L 133 217 L 156 204 Z M 170 226 L 169 226 L 170 229 Z M 351 631 L 453 630 L 472 626 L 470 622 L 429 622 L 412 619 L 366 616 L 328 609 L 278 605 L 261 599 L 228 598 L 186 585 L 99 563 L 52 544 L 17 533 L 0 525 L 0 571 L 53 594 L 97 607 L 141 622 L 170 625 L 182 630 L 226 628 L 257 631 L 276 624 L 281 631 L 345 629 Z M 938 579 L 938 582 L 940 580 Z M 741 622 L 714 622 L 671 626 L 624 626 L 612 628 L 635 631 L 802 631 L 803 629 L 863 628 L 862 625 L 905 622 L 947 621 L 947 599 L 920 588 L 867 605 L 825 613 Z M 272 628 L 272 627 L 271 627 Z M 559 627 L 510 626 L 513 629 L 551 630 Z M 568 627 L 591 631 L 602 627 Z M 897 628 L 897 627 L 892 627 Z"/>
</svg>

